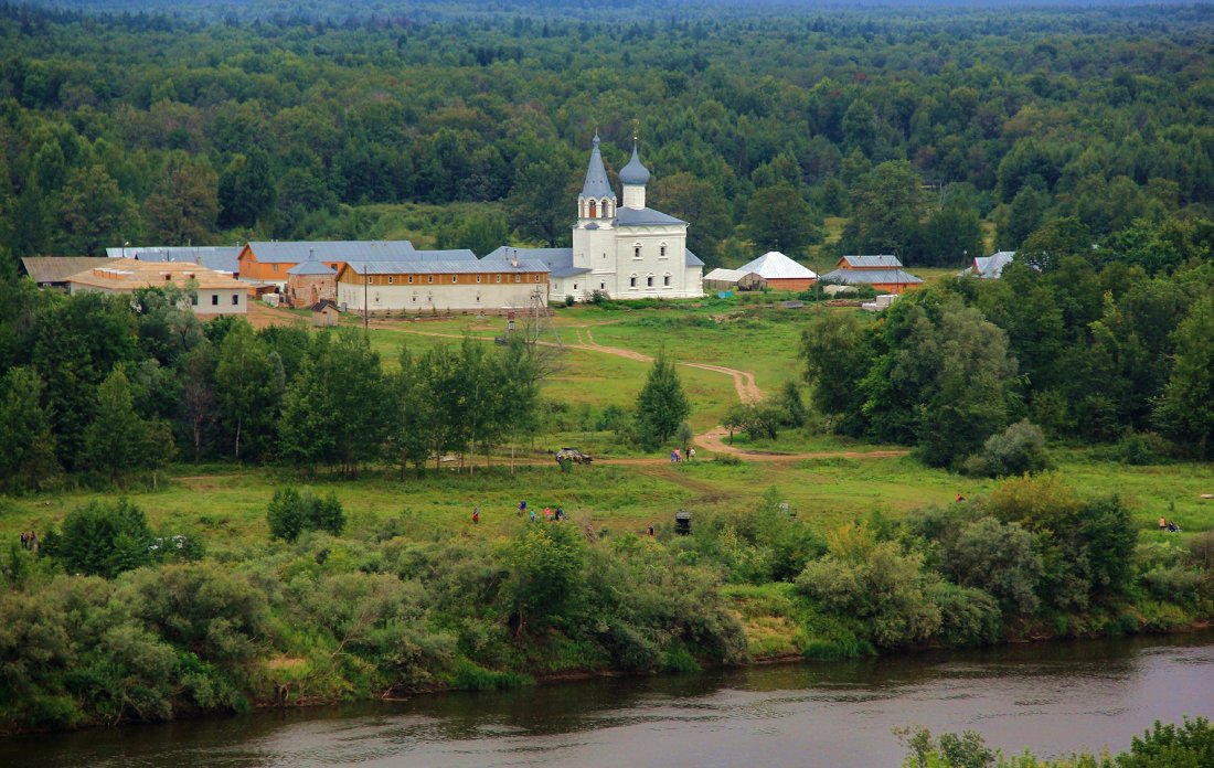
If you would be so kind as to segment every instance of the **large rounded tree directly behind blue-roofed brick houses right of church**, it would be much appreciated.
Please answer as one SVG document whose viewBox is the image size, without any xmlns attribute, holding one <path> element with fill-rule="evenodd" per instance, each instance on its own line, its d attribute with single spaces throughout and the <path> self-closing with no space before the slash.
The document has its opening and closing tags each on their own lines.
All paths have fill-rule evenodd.
<svg viewBox="0 0 1214 768">
<path fill-rule="evenodd" d="M 926 209 L 923 180 L 914 167 L 906 160 L 886 160 L 852 188 L 843 249 L 850 254 L 908 254 Z"/>
</svg>

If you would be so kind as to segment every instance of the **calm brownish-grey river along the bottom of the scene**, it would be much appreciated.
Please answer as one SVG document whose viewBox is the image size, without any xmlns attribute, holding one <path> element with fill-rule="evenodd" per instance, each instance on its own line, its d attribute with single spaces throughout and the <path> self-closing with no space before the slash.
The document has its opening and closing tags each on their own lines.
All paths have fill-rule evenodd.
<svg viewBox="0 0 1214 768">
<path fill-rule="evenodd" d="M 1214 719 L 1214 632 L 1037 643 L 0 739 L 0 766 L 898 766 L 895 728 L 1039 757 Z"/>
</svg>

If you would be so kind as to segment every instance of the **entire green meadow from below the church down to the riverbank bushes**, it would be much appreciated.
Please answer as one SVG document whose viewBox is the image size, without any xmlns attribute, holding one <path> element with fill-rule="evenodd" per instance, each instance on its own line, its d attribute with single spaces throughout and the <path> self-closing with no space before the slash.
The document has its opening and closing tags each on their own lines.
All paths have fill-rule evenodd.
<svg viewBox="0 0 1214 768">
<path fill-rule="evenodd" d="M 562 340 L 571 346 L 561 369 L 548 381 L 544 397 L 566 403 L 584 415 L 607 405 L 630 406 L 649 364 L 588 348 L 591 342 L 656 354 L 665 346 L 680 363 L 708 363 L 753 372 L 765 392 L 795 379 L 795 348 L 810 311 L 775 311 L 741 302 L 680 302 L 662 309 L 574 307 L 556 312 Z M 425 322 L 376 322 L 373 346 L 387 366 L 395 366 L 402 345 L 420 353 L 438 343 L 459 343 L 464 335 L 492 339 L 504 325 L 501 318 L 455 318 Z M 492 343 L 492 342 L 487 342 Z M 691 422 L 697 432 L 715 427 L 724 410 L 737 402 L 733 379 L 715 371 L 680 368 L 693 404 Z M 785 432 L 776 442 L 737 445 L 783 453 L 868 451 L 881 448 L 844 438 Z M 874 511 L 900 516 L 927 505 L 952 504 L 958 493 L 974 497 L 991 483 L 929 470 L 902 457 L 816 459 L 755 461 L 727 466 L 710 461 L 708 451 L 694 465 L 596 463 L 561 473 L 550 462 L 561 445 L 579 445 L 595 455 L 640 456 L 622 446 L 607 432 L 588 429 L 534 436 L 524 446 L 524 461 L 511 476 L 504 456 L 495 456 L 492 471 L 478 457 L 476 474 L 454 470 L 429 471 L 405 479 L 388 468 L 371 470 L 357 482 L 313 483 L 334 491 L 356 528 L 373 528 L 407 518 L 424 535 L 466 535 L 469 517 L 481 505 L 482 524 L 476 535 L 497 535 L 517 524 L 514 514 L 520 499 L 531 506 L 563 506 L 574 519 L 591 528 L 642 530 L 669 522 L 679 508 L 693 513 L 754 508 L 764 491 L 779 489 L 801 519 L 822 530 Z M 526 453 L 526 451 L 524 451 Z M 1214 493 L 1214 467 L 1174 463 L 1130 467 L 1100 461 L 1091 451 L 1057 454 L 1066 482 L 1084 493 L 1117 493 L 1125 496 L 1144 530 L 1165 516 L 1186 531 L 1214 528 L 1214 501 L 1199 499 Z M 180 466 L 159 490 L 132 490 L 155 525 L 185 527 L 204 533 L 215 542 L 263 539 L 265 507 L 273 489 L 300 484 L 284 470 L 240 468 L 227 465 L 195 468 Z M 109 496 L 92 491 L 66 491 L 49 496 L 0 499 L 0 531 L 46 530 L 70 508 Z M 402 518 L 403 519 L 403 518 Z"/>
</svg>

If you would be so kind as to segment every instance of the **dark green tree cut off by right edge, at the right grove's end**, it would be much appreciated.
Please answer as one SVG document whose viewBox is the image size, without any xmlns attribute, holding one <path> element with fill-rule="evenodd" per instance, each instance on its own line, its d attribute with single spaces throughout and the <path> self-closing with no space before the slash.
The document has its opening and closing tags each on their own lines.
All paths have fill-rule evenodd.
<svg viewBox="0 0 1214 768">
<path fill-rule="evenodd" d="M 1214 297 L 1199 298 L 1172 335 L 1172 376 L 1156 419 L 1174 440 L 1206 459 L 1214 450 Z"/>
</svg>

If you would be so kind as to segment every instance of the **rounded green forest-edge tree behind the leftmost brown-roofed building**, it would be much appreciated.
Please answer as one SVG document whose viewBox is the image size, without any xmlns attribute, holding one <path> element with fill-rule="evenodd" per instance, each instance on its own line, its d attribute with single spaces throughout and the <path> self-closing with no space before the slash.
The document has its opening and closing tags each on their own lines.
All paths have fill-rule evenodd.
<svg viewBox="0 0 1214 768">
<path fill-rule="evenodd" d="M 106 167 L 93 165 L 72 172 L 58 197 L 59 223 L 55 250 L 72 256 L 104 255 L 135 232 L 135 204 L 118 188 Z"/>
</svg>

